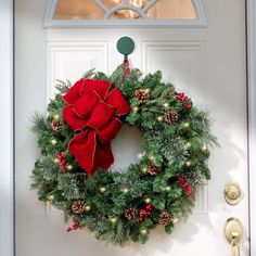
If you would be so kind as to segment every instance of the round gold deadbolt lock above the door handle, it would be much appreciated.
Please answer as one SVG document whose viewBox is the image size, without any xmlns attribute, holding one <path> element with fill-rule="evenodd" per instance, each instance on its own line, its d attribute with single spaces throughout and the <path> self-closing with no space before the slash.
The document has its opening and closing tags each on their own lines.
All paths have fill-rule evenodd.
<svg viewBox="0 0 256 256">
<path fill-rule="evenodd" d="M 223 191 L 225 200 L 229 205 L 236 205 L 241 201 L 241 188 L 236 182 L 228 182 Z"/>
</svg>

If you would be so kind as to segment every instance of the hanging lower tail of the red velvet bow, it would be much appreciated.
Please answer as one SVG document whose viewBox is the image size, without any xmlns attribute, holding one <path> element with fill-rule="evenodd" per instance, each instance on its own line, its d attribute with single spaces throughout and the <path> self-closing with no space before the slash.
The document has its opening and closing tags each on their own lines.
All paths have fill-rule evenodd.
<svg viewBox="0 0 256 256">
<path fill-rule="evenodd" d="M 111 140 L 121 127 L 118 118 L 113 118 L 101 130 L 87 127 L 72 139 L 68 151 L 76 157 L 79 165 L 92 176 L 97 168 L 107 169 L 114 163 Z"/>
</svg>

